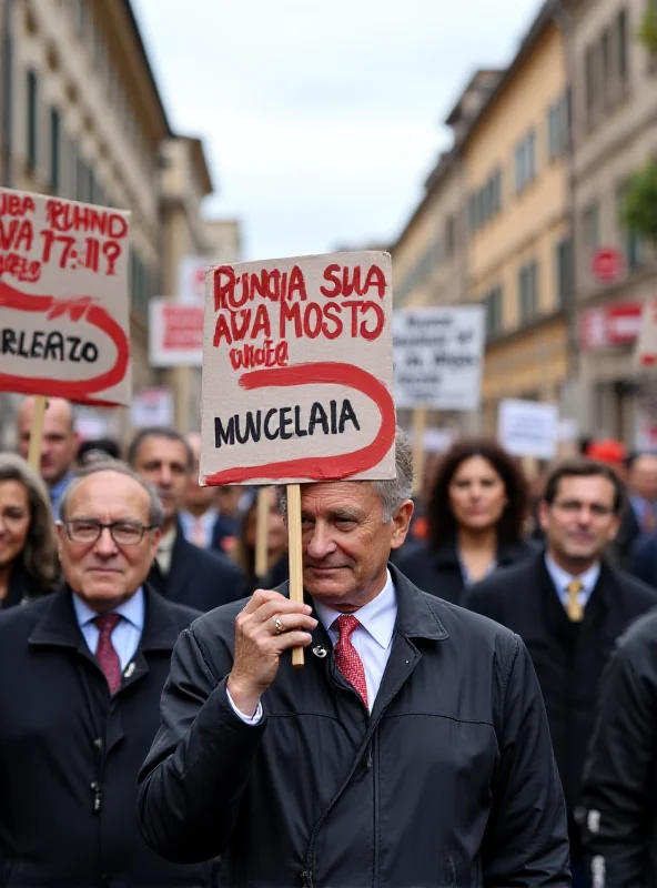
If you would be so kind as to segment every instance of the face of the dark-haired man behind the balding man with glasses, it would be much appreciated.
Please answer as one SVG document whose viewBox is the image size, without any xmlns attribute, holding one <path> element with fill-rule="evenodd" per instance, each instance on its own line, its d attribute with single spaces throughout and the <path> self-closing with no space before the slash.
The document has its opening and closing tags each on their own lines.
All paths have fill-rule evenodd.
<svg viewBox="0 0 657 888">
<path fill-rule="evenodd" d="M 168 437 L 146 437 L 133 468 L 158 491 L 164 508 L 164 527 L 169 529 L 182 506 L 190 475 L 185 446 Z"/>
</svg>

